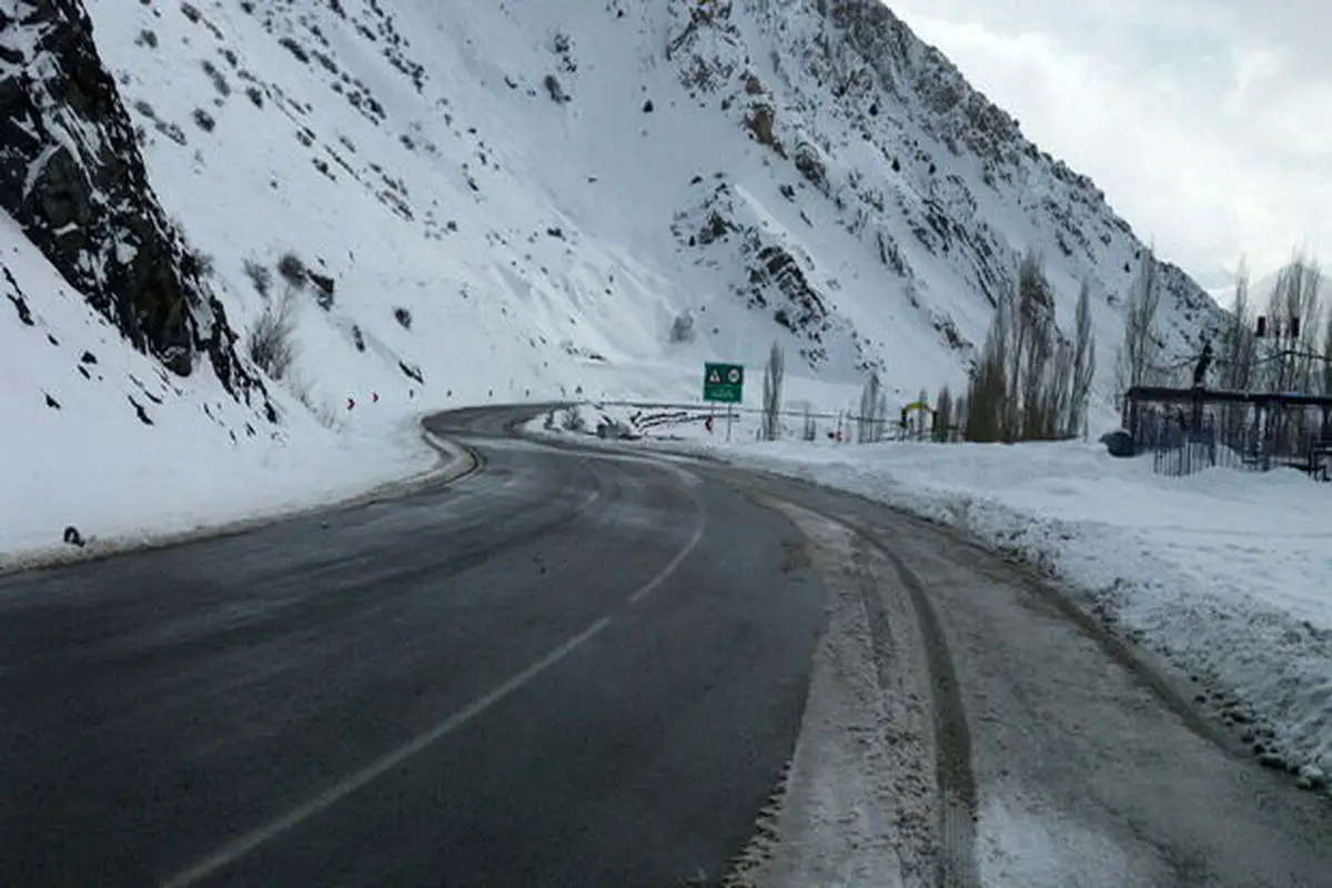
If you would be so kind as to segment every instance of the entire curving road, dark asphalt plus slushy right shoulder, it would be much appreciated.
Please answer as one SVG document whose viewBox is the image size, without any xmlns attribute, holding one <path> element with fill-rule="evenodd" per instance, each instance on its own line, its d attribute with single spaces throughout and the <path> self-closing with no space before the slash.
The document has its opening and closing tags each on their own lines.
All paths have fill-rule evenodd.
<svg viewBox="0 0 1332 888">
<path fill-rule="evenodd" d="M 1332 885 L 1327 799 L 1062 590 L 534 411 L 432 418 L 445 487 L 0 578 L 0 884 L 715 884 L 781 784 L 765 884 Z"/>
</svg>

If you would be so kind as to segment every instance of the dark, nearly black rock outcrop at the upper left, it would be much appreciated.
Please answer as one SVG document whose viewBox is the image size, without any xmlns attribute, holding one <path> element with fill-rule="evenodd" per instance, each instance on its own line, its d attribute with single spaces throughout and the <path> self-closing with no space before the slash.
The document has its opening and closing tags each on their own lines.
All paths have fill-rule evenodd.
<svg viewBox="0 0 1332 888">
<path fill-rule="evenodd" d="M 224 386 L 258 382 L 168 222 L 81 0 L 0 8 L 0 206 L 135 347 L 189 375 L 206 354 Z"/>
</svg>

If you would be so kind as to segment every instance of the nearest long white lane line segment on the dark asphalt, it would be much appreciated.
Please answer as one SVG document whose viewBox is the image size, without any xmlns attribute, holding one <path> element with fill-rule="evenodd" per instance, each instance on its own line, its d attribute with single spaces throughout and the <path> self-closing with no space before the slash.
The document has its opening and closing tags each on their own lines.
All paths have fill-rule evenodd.
<svg viewBox="0 0 1332 888">
<path fill-rule="evenodd" d="M 163 888 L 185 888 L 186 885 L 193 885 L 200 880 L 214 875 L 224 867 L 228 867 L 240 860 L 241 857 L 245 857 L 260 845 L 274 839 L 276 836 L 290 829 L 292 827 L 296 827 L 302 821 L 309 820 L 314 815 L 321 813 L 326 808 L 330 808 L 337 801 L 341 801 L 342 799 L 352 795 L 357 789 L 365 787 L 372 780 L 384 776 L 384 774 L 386 774 L 388 771 L 402 764 L 416 754 L 437 743 L 449 734 L 453 734 L 454 731 L 457 731 L 464 724 L 466 724 L 472 719 L 477 718 L 478 715 L 489 710 L 500 700 L 505 699 L 514 691 L 518 691 L 529 682 L 531 682 L 534 678 L 549 670 L 551 666 L 554 666 L 559 660 L 573 654 L 582 644 L 585 644 L 593 636 L 595 636 L 598 632 L 606 628 L 609 624 L 610 624 L 610 618 L 602 616 L 599 620 L 585 628 L 578 635 L 570 638 L 567 642 L 565 642 L 555 650 L 546 654 L 543 658 L 541 658 L 539 660 L 525 668 L 522 672 L 518 672 L 517 675 L 514 675 L 513 678 L 510 678 L 503 684 L 490 691 L 481 699 L 474 700 L 465 710 L 453 714 L 446 720 L 430 728 L 429 731 L 416 738 L 410 743 L 398 747 L 397 750 L 384 756 L 374 764 L 370 764 L 357 771 L 356 774 L 342 780 L 341 783 L 329 787 L 328 789 L 314 796 L 301 807 L 294 808 L 288 813 L 282 815 L 281 817 L 270 820 L 269 823 L 265 823 L 262 827 L 258 827 L 257 829 L 245 833 L 240 839 L 236 839 L 234 841 L 218 848 L 217 851 L 208 855 L 189 869 L 185 869 L 184 872 L 180 872 L 168 879 L 166 881 L 164 881 Z"/>
</svg>

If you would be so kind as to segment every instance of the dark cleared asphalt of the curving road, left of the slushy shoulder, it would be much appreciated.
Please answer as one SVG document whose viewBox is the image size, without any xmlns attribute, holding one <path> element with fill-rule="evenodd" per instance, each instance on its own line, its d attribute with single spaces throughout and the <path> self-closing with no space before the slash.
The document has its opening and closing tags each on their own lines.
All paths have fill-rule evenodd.
<svg viewBox="0 0 1332 888">
<path fill-rule="evenodd" d="M 501 437 L 446 487 L 0 579 L 0 885 L 678 885 L 790 758 L 799 534 Z"/>
</svg>

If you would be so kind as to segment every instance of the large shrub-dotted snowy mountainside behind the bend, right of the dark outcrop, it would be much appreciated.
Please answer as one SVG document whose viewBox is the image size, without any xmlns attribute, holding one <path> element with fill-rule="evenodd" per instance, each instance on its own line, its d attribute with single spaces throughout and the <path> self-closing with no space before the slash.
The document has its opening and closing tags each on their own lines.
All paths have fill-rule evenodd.
<svg viewBox="0 0 1332 888">
<path fill-rule="evenodd" d="M 260 302 L 245 258 L 294 250 L 336 281 L 333 310 L 301 325 L 321 390 L 408 385 L 398 361 L 472 397 L 591 386 L 602 362 L 650 367 L 646 387 L 679 385 L 663 363 L 687 367 L 693 389 L 699 358 L 753 362 L 783 333 L 822 378 L 859 383 L 858 366 L 883 362 L 904 390 L 934 389 L 959 375 L 1026 246 L 1047 256 L 1066 316 L 1092 278 L 1108 371 L 1112 304 L 1142 250 L 1128 226 L 886 11 L 835 24 L 822 5 L 153 0 L 92 15 L 153 182 L 216 256 L 233 313 Z M 871 25 L 890 31 L 856 36 Z M 759 107 L 773 148 L 746 126 Z M 705 248 L 691 229 L 714 209 L 737 232 Z M 782 254 L 807 292 L 786 288 L 795 272 L 751 285 Z M 1176 289 L 1163 326 L 1181 345 L 1208 302 Z M 673 346 L 686 310 L 699 342 Z M 782 310 L 806 317 L 799 333 Z M 336 378 L 313 355 L 354 347 L 353 325 L 373 347 Z"/>
</svg>

